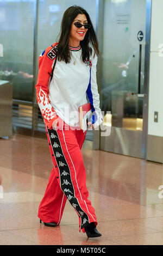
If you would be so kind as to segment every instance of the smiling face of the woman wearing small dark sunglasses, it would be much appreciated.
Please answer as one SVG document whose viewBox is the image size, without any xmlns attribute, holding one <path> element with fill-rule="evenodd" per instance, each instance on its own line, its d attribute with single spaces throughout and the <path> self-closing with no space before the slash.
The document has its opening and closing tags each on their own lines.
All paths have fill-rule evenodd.
<svg viewBox="0 0 163 256">
<path fill-rule="evenodd" d="M 71 44 L 71 42 L 74 42 L 74 41 L 76 41 L 77 44 L 78 44 L 79 41 L 82 41 L 84 39 L 84 36 L 87 32 L 87 29 L 84 28 L 84 27 L 77 28 L 74 25 L 74 22 L 79 22 L 79 23 L 82 23 L 82 24 L 86 24 L 87 19 L 86 19 L 85 14 L 78 14 L 78 16 L 73 20 L 72 26 L 71 26 L 71 32 L 70 32 L 70 44 Z M 83 33 L 79 33 L 79 32 L 83 32 Z"/>
</svg>

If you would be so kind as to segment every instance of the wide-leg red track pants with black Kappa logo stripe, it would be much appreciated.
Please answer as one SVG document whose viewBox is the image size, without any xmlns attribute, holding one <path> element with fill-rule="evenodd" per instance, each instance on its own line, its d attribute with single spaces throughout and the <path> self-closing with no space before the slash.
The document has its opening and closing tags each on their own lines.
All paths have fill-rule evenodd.
<svg viewBox="0 0 163 256">
<path fill-rule="evenodd" d="M 61 129 L 46 127 L 53 169 L 48 185 L 39 205 L 38 217 L 43 222 L 59 225 L 68 199 L 79 216 L 79 231 L 85 232 L 85 225 L 97 225 L 95 209 L 92 207 L 86 188 L 86 172 L 83 163 L 82 145 L 86 131 L 67 130 L 61 120 Z M 70 126 L 69 126 L 70 127 Z"/>
</svg>

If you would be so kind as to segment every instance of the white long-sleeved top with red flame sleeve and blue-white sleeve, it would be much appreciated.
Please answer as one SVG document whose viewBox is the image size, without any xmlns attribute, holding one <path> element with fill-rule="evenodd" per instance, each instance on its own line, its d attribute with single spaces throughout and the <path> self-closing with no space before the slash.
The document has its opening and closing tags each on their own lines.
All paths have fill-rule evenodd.
<svg viewBox="0 0 163 256">
<path fill-rule="evenodd" d="M 55 42 L 43 51 L 39 57 L 39 74 L 36 83 L 36 97 L 45 124 L 52 129 L 52 124 L 59 116 L 70 126 L 79 126 L 78 107 L 87 102 L 91 103 L 91 111 L 95 113 L 92 123 L 103 122 L 99 108 L 99 94 L 96 81 L 97 55 L 92 55 L 85 63 L 81 59 L 82 47 L 71 47 L 71 62 L 59 62 L 57 59 L 53 78 L 51 72 L 55 60 Z M 76 59 L 76 65 L 74 65 Z M 51 82 L 50 82 L 51 81 Z M 87 96 L 87 97 L 86 97 Z M 89 99 L 89 101 L 87 100 Z"/>
</svg>

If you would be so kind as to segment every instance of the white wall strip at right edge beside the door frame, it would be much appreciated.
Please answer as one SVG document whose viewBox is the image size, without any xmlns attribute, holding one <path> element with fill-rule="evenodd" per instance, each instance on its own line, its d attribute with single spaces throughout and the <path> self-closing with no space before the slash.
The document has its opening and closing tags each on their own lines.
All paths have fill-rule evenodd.
<svg viewBox="0 0 163 256">
<path fill-rule="evenodd" d="M 163 0 L 152 0 L 148 135 L 163 137 Z M 159 46 L 162 44 L 161 48 Z M 162 49 L 162 52 L 160 51 Z M 154 112 L 159 112 L 158 123 Z"/>
</svg>

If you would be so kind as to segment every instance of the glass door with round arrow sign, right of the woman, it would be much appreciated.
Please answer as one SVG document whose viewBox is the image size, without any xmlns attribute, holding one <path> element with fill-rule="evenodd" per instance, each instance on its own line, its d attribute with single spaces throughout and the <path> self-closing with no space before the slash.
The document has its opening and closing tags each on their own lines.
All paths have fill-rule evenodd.
<svg viewBox="0 0 163 256">
<path fill-rule="evenodd" d="M 103 24 L 100 149 L 144 158 L 146 0 L 105 0 Z"/>
</svg>

